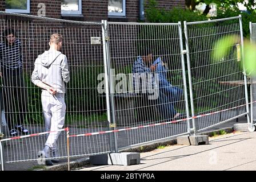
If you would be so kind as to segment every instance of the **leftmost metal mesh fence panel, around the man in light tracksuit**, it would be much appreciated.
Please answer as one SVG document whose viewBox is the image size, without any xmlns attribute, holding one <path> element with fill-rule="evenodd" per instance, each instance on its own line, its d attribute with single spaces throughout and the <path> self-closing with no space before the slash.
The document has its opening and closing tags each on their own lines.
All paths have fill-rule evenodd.
<svg viewBox="0 0 256 182">
<path fill-rule="evenodd" d="M 11 102 L 11 97 L 18 100 L 18 104 L 13 102 L 4 108 L 7 123 L 3 128 L 5 138 L 13 137 L 10 135 L 13 128 L 10 127 L 18 125 L 29 130 L 29 134 L 46 131 L 41 104 L 42 89 L 32 84 L 31 73 L 35 59 L 49 49 L 50 35 L 54 33 L 63 37 L 61 52 L 67 57 L 70 72 L 70 81 L 66 85 L 66 117 L 63 128 L 69 127 L 70 135 L 109 130 L 106 96 L 97 90 L 98 84 L 102 81 L 98 80 L 98 76 L 105 72 L 102 23 L 74 22 L 1 12 L 0 24 L 2 40 L 6 38 L 2 32 L 8 28 L 16 32 L 15 40 L 21 45 L 19 51 L 23 57 L 19 80 L 11 75 L 8 78 L 6 75 L 1 77 L 3 92 L 5 89 L 13 90 L 7 99 L 3 98 L 3 103 Z M 2 67 L 3 69 L 5 67 Z M 6 85 L 5 78 L 15 84 Z M 22 135 L 18 132 L 18 137 Z M 108 135 L 70 138 L 70 156 L 109 152 L 108 140 Z M 46 135 L 7 140 L 3 142 L 5 162 L 37 160 L 38 152 L 43 149 L 45 142 Z M 66 145 L 66 133 L 62 131 L 57 140 L 59 156 L 52 158 L 66 158 Z"/>
</svg>

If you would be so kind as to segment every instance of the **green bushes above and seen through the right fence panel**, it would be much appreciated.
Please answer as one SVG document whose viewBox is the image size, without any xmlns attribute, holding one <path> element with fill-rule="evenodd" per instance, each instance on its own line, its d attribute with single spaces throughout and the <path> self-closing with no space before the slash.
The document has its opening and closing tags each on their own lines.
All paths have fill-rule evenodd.
<svg viewBox="0 0 256 182">
<path fill-rule="evenodd" d="M 153 22 L 153 23 L 177 23 L 179 21 L 182 22 L 186 20 L 186 22 L 195 22 L 195 21 L 201 21 L 201 20 L 207 20 L 208 18 L 205 15 L 201 15 L 198 13 L 194 13 L 191 10 L 182 9 L 181 7 L 177 7 L 171 10 L 163 10 L 158 9 L 157 2 L 155 0 L 149 0 L 147 5 L 145 6 L 145 15 L 147 22 Z M 220 18 L 230 18 L 234 16 L 238 16 L 239 14 L 242 15 L 242 23 L 243 23 L 243 36 L 246 38 L 249 38 L 249 22 L 256 22 L 256 14 L 255 13 L 241 13 L 239 11 L 233 11 L 233 10 L 218 10 L 217 17 L 211 18 L 211 19 L 220 19 Z M 196 68 L 191 70 L 191 76 L 193 83 L 197 83 L 193 85 L 193 98 L 194 98 L 194 106 L 195 106 L 195 113 L 203 113 L 204 111 L 210 111 L 210 110 L 221 110 L 226 109 L 226 107 L 232 107 L 237 105 L 237 99 L 241 100 L 243 98 L 235 98 L 233 92 L 239 92 L 241 93 L 241 96 L 244 94 L 244 90 L 241 88 L 229 89 L 228 85 L 220 85 L 219 81 L 225 81 L 225 79 L 231 79 L 231 76 L 222 77 L 223 73 L 226 75 L 232 75 L 233 72 L 239 72 L 241 71 L 242 67 L 236 61 L 227 61 L 232 59 L 236 59 L 236 50 L 237 47 L 233 46 L 233 51 L 230 51 L 229 55 L 223 58 L 222 64 L 212 64 L 211 59 L 211 52 L 207 51 L 210 50 L 213 46 L 213 42 L 215 42 L 218 39 L 221 39 L 223 35 L 216 35 L 216 29 L 217 28 L 211 28 L 211 27 L 225 27 L 228 23 L 234 23 L 233 21 L 230 22 L 212 22 L 207 24 L 197 24 L 193 26 L 189 26 L 187 28 L 187 33 L 189 36 L 190 34 L 193 34 L 193 37 L 198 37 L 198 39 L 189 39 L 190 44 L 190 52 L 198 52 L 197 45 L 200 45 L 200 48 L 202 50 L 201 53 L 194 54 L 192 53 L 190 55 L 191 58 L 191 67 Z M 201 30 L 202 31 L 197 31 Z M 174 32 L 175 33 L 175 32 Z M 174 34 L 173 33 L 173 34 Z M 204 35 L 216 35 L 216 36 L 204 36 Z M 238 32 L 239 34 L 239 32 Z M 165 36 L 165 35 L 161 35 Z M 183 34 L 183 45 L 185 45 L 185 36 Z M 158 42 L 155 41 L 156 44 Z M 177 44 L 178 45 L 178 44 Z M 167 44 L 167 49 L 169 48 L 169 45 Z M 179 53 L 179 48 L 174 50 L 174 52 Z M 186 56 L 185 56 L 186 59 Z M 175 60 L 175 59 L 173 59 Z M 175 61 L 180 62 L 179 59 L 176 59 Z M 177 63 L 178 63 L 177 62 Z M 172 62 L 173 65 L 177 65 L 177 63 Z M 186 66 L 187 64 L 185 64 Z M 211 66 L 209 66 L 211 65 Z M 240 67 L 239 67 L 240 66 Z M 201 68 L 202 67 L 202 68 Z M 175 68 L 171 68 L 171 70 Z M 202 70 L 201 70 L 202 69 Z M 195 70 L 197 72 L 195 72 Z M 174 78 L 178 75 L 174 75 Z M 237 74 L 234 76 L 235 78 L 243 79 L 241 74 Z M 182 81 L 182 78 L 177 79 L 179 82 Z M 188 75 L 186 74 L 186 80 L 188 81 Z M 175 79 L 171 78 L 171 81 L 175 81 Z M 187 84 L 188 85 L 188 84 Z M 187 93 L 189 93 L 189 86 L 187 86 Z M 239 97 L 241 97 L 239 95 Z M 189 96 L 190 97 L 190 96 Z M 207 101 L 205 101 L 207 100 Z M 229 104 L 229 105 L 227 105 Z"/>
</svg>

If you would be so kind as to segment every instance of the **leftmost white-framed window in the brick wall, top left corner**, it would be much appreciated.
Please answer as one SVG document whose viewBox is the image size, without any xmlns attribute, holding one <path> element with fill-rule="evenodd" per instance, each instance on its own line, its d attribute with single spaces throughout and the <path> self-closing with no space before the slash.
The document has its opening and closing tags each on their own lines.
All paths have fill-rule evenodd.
<svg viewBox="0 0 256 182">
<path fill-rule="evenodd" d="M 30 13 L 30 0 L 6 0 L 5 11 L 11 13 Z"/>
</svg>

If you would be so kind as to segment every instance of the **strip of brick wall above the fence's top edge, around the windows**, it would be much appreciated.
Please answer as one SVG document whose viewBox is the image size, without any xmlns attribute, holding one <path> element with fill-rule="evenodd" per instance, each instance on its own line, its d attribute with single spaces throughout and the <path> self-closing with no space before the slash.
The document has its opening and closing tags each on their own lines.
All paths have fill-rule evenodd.
<svg viewBox="0 0 256 182">
<path fill-rule="evenodd" d="M 61 0 L 30 0 L 30 13 L 37 15 L 39 3 L 44 3 L 46 7 L 46 17 L 81 20 L 81 21 L 100 21 L 107 19 L 110 21 L 120 22 L 137 22 L 139 19 L 139 0 L 123 0 L 125 2 L 126 14 L 125 16 L 109 16 L 108 3 L 109 0 L 81 0 L 82 13 L 79 16 L 69 16 L 61 14 Z M 147 0 L 146 0 L 147 1 Z M 0 0 L 0 10 L 5 11 L 6 0 Z M 158 6 L 164 9 L 171 9 L 172 7 L 185 7 L 185 0 L 157 0 Z"/>
</svg>

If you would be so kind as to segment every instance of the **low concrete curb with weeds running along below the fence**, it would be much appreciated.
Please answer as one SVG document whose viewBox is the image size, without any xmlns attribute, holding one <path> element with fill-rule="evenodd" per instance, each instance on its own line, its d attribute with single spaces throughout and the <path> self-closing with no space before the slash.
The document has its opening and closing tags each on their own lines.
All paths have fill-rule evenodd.
<svg viewBox="0 0 256 182">
<path fill-rule="evenodd" d="M 214 132 L 219 134 L 220 131 L 225 131 L 226 133 L 233 133 L 234 127 L 226 127 L 218 130 L 210 130 L 210 131 L 206 131 L 198 134 L 212 137 Z M 177 138 L 163 140 L 157 143 L 146 144 L 140 147 L 133 147 L 126 150 L 120 150 L 119 152 L 139 152 L 139 153 L 149 152 L 149 151 L 155 150 L 158 146 L 167 146 L 167 145 L 174 145 L 174 144 L 177 144 Z M 85 167 L 86 165 L 89 165 L 89 164 L 90 164 L 89 157 L 77 159 L 77 160 L 74 160 L 73 162 L 70 162 L 70 169 Z M 49 167 L 46 167 L 45 169 L 35 169 L 33 171 L 67 171 L 67 163 L 54 164 L 54 166 L 49 166 Z"/>
</svg>

